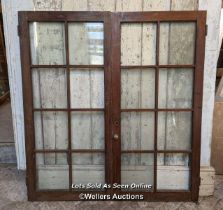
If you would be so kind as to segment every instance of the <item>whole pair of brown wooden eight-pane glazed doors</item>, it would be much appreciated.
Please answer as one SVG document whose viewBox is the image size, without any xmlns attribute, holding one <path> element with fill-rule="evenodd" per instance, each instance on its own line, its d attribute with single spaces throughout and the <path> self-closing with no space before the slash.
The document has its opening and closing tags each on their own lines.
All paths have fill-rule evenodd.
<svg viewBox="0 0 223 210">
<path fill-rule="evenodd" d="M 205 21 L 202 11 L 19 12 L 30 200 L 197 200 Z"/>
</svg>

